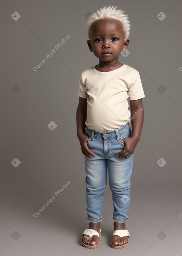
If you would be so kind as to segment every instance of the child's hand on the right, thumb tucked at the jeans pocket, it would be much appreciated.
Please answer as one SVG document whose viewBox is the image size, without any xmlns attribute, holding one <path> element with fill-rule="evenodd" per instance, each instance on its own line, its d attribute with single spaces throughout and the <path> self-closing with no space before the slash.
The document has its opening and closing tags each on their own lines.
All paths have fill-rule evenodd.
<svg viewBox="0 0 182 256">
<path fill-rule="evenodd" d="M 133 137 L 123 139 L 123 142 L 125 143 L 125 148 L 122 151 L 118 152 L 116 156 L 118 156 L 119 158 L 130 157 L 133 154 L 138 141 L 139 140 Z"/>
</svg>

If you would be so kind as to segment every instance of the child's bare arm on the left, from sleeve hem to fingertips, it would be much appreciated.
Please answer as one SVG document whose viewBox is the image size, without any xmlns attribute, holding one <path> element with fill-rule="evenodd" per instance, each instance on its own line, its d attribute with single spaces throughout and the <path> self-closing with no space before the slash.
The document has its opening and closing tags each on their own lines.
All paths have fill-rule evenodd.
<svg viewBox="0 0 182 256">
<path fill-rule="evenodd" d="M 87 99 L 79 97 L 79 104 L 76 110 L 76 130 L 77 137 L 80 141 L 81 151 L 86 157 L 95 156 L 87 147 L 89 137 L 85 134 L 85 121 L 87 119 Z"/>
</svg>

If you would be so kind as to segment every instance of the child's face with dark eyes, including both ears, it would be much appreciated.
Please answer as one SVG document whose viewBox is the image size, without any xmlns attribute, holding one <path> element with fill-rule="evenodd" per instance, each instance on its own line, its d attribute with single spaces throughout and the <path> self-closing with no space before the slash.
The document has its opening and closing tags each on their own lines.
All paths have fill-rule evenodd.
<svg viewBox="0 0 182 256">
<path fill-rule="evenodd" d="M 129 40 L 124 41 L 123 25 L 119 20 L 101 19 L 92 23 L 87 43 L 98 59 L 108 62 L 127 49 Z"/>
</svg>

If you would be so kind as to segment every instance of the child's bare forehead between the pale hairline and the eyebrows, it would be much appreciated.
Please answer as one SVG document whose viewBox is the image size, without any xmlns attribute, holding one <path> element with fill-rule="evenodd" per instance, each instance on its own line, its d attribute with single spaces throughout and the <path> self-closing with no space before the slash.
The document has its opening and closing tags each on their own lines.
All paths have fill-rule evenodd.
<svg viewBox="0 0 182 256">
<path fill-rule="evenodd" d="M 96 34 L 105 35 L 105 34 L 123 34 L 123 25 L 121 21 L 116 19 L 101 19 L 96 20 L 92 23 L 90 28 L 90 36 Z"/>
</svg>

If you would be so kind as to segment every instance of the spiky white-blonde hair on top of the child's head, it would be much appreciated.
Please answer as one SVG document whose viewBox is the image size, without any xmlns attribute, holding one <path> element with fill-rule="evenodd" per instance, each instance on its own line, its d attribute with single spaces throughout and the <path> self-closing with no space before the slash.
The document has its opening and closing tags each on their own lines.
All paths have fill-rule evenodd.
<svg viewBox="0 0 182 256">
<path fill-rule="evenodd" d="M 90 39 L 90 28 L 94 21 L 101 20 L 101 19 L 116 19 L 119 20 L 123 25 L 124 30 L 124 40 L 128 39 L 129 37 L 129 30 L 131 25 L 129 24 L 129 18 L 127 14 L 124 14 L 124 11 L 116 10 L 117 6 L 114 7 L 109 5 L 108 7 L 105 6 L 96 10 L 92 15 L 90 15 L 89 19 L 87 20 L 87 35 Z"/>
</svg>

